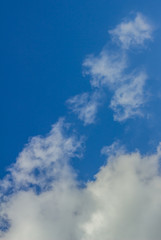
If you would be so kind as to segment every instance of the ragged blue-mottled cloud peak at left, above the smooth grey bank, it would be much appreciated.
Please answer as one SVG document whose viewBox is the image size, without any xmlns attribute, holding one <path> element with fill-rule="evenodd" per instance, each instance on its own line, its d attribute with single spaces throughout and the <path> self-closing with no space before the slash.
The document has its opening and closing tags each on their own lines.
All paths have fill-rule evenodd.
<svg viewBox="0 0 161 240">
<path fill-rule="evenodd" d="M 33 137 L 0 182 L 3 191 L 13 186 L 15 189 L 34 186 L 40 191 L 50 188 L 53 178 L 59 176 L 60 169 L 67 166 L 70 158 L 79 155 L 81 148 L 81 140 L 76 140 L 74 135 L 65 136 L 67 128 L 69 126 L 60 119 L 46 137 Z"/>
</svg>

